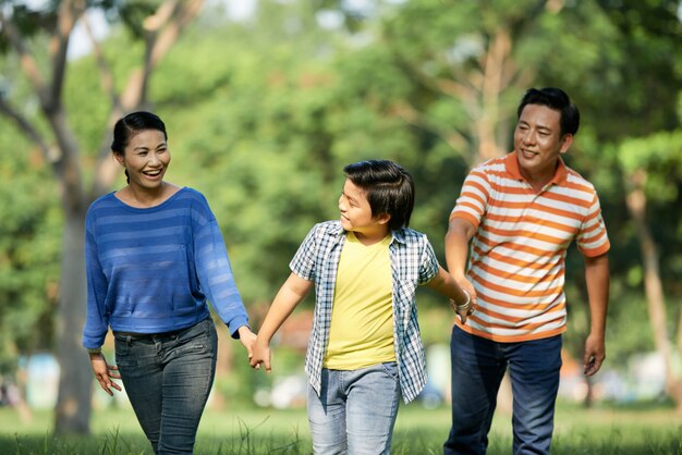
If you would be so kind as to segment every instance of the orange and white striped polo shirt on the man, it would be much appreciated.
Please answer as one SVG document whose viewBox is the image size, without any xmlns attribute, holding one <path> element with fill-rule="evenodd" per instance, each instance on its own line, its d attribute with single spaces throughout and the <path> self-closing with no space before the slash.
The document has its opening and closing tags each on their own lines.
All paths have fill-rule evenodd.
<svg viewBox="0 0 682 455">
<path fill-rule="evenodd" d="M 594 186 L 559 161 L 539 194 L 519 171 L 516 152 L 476 167 L 450 219 L 476 228 L 468 279 L 478 297 L 463 330 L 498 342 L 565 331 L 565 255 L 575 239 L 587 257 L 610 247 Z"/>
</svg>

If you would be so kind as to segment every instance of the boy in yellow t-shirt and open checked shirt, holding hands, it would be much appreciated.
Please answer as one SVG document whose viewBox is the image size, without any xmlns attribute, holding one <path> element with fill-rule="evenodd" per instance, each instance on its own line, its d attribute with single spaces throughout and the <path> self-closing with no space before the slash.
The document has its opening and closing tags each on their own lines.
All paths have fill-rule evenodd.
<svg viewBox="0 0 682 455">
<path fill-rule="evenodd" d="M 439 265 L 426 236 L 407 228 L 412 176 L 388 160 L 344 169 L 339 220 L 316 224 L 292 259 L 253 347 L 251 366 L 270 371 L 269 343 L 315 287 L 305 361 L 316 454 L 388 454 L 398 402 L 426 383 L 415 292 L 449 297 L 462 322 L 471 297 Z"/>
</svg>

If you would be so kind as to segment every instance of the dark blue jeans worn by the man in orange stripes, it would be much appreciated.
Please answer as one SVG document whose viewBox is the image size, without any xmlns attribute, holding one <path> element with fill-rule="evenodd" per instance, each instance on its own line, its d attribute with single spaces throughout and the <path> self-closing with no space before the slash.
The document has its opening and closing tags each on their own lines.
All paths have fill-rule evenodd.
<svg viewBox="0 0 682 455">
<path fill-rule="evenodd" d="M 497 393 L 509 366 L 513 453 L 549 454 L 561 369 L 561 335 L 498 343 L 456 325 L 450 341 L 452 428 L 444 454 L 485 454 Z"/>
</svg>

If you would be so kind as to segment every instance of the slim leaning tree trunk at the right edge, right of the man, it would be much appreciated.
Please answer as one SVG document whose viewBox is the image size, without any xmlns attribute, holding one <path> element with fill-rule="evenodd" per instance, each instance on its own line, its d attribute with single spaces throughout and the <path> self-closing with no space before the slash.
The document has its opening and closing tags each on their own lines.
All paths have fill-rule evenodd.
<svg viewBox="0 0 682 455">
<path fill-rule="evenodd" d="M 674 401 L 678 413 L 682 413 L 682 379 L 675 378 L 672 369 L 672 348 L 667 330 L 668 317 L 666 315 L 666 300 L 658 265 L 658 246 L 654 242 L 651 232 L 646 223 L 646 194 L 644 192 L 646 172 L 643 170 L 636 171 L 628 181 L 631 187 L 629 188 L 625 202 L 640 241 L 644 267 L 644 290 L 648 303 L 649 321 L 654 332 L 654 343 L 656 351 L 661 353 L 663 357 L 666 390 Z"/>
</svg>

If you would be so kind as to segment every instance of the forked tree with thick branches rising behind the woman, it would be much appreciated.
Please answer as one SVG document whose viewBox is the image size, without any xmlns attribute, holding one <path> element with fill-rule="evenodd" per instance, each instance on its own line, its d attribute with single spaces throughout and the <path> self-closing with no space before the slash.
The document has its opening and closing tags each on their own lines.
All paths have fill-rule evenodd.
<svg viewBox="0 0 682 455">
<path fill-rule="evenodd" d="M 41 119 L 27 115 L 8 94 L 0 97 L 0 112 L 39 148 L 50 164 L 63 212 L 57 328 L 57 354 L 61 367 L 54 413 L 57 433 L 89 431 L 93 378 L 87 356 L 76 354 L 82 351 L 80 334 L 85 319 L 84 220 L 89 204 L 110 187 L 115 175 L 113 162 L 107 159 L 108 131 L 124 112 L 147 104 L 154 70 L 202 4 L 202 0 L 137 4 L 64 0 L 37 11 L 21 3 L 3 2 L 4 8 L 0 10 L 1 45 L 16 57 L 21 75 L 33 90 Z M 103 50 L 93 39 L 101 86 L 111 104 L 108 122 L 102 125 L 107 127 L 107 133 L 101 134 L 105 139 L 95 163 L 88 169 L 87 175 L 92 172 L 92 177 L 86 179 L 84 168 L 87 162 L 69 119 L 64 86 L 71 34 L 78 21 L 88 26 L 85 13 L 89 8 L 105 8 L 109 13 L 118 13 L 133 35 L 144 41 L 144 57 L 120 89 Z M 47 54 L 40 49 L 44 39 L 48 40 Z"/>
</svg>

